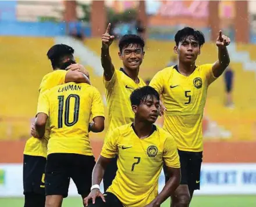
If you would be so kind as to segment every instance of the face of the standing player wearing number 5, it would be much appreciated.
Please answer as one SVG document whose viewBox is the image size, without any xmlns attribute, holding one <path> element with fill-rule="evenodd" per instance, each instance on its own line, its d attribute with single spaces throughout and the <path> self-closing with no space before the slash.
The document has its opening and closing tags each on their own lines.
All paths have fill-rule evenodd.
<svg viewBox="0 0 256 207">
<path fill-rule="evenodd" d="M 175 46 L 175 52 L 179 56 L 179 60 L 185 63 L 194 63 L 197 56 L 200 55 L 200 46 L 193 36 L 189 36 L 179 42 L 179 46 Z"/>
</svg>

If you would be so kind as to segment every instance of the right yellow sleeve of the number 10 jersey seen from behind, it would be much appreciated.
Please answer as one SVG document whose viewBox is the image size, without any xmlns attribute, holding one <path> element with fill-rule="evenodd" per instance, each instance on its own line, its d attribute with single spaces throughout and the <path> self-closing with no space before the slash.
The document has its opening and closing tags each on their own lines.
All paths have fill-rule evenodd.
<svg viewBox="0 0 256 207">
<path fill-rule="evenodd" d="M 93 100 L 91 104 L 91 118 L 94 117 L 105 117 L 101 93 L 99 93 L 96 88 L 93 90 Z"/>
</svg>

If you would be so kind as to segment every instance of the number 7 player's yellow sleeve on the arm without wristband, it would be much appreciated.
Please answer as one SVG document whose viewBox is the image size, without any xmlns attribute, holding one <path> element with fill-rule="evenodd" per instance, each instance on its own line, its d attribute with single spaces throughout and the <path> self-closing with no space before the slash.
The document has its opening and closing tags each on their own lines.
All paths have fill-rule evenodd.
<svg viewBox="0 0 256 207">
<path fill-rule="evenodd" d="M 180 158 L 172 136 L 168 136 L 163 145 L 163 161 L 168 167 L 180 168 Z"/>
</svg>

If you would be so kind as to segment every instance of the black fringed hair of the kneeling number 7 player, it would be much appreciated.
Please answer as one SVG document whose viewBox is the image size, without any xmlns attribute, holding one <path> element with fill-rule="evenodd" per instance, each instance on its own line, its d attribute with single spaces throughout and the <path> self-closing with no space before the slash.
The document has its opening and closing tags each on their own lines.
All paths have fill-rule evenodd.
<svg viewBox="0 0 256 207">
<path fill-rule="evenodd" d="M 135 89 L 130 95 L 131 105 L 139 106 L 141 103 L 147 100 L 147 97 L 150 96 L 151 99 L 154 97 L 157 100 L 160 100 L 159 93 L 157 90 L 151 86 L 143 86 L 141 88 Z"/>
</svg>

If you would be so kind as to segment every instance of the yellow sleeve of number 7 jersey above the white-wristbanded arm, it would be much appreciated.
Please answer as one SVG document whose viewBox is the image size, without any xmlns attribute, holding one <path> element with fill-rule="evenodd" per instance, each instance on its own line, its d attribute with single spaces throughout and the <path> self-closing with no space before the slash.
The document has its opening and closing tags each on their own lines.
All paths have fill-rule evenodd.
<svg viewBox="0 0 256 207">
<path fill-rule="evenodd" d="M 118 154 L 118 129 L 114 129 L 105 137 L 105 143 L 101 150 L 101 156 L 105 158 L 114 158 Z"/>
</svg>

